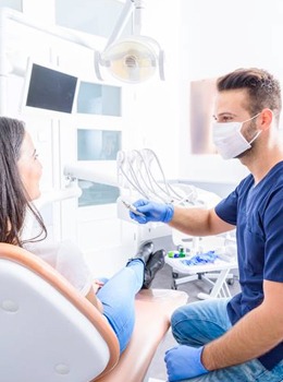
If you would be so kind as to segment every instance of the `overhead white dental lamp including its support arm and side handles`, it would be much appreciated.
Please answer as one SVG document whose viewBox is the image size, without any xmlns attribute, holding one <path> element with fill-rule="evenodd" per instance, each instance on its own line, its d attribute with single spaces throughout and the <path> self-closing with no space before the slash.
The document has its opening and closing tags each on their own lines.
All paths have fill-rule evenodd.
<svg viewBox="0 0 283 382">
<path fill-rule="evenodd" d="M 116 80 L 139 83 L 150 79 L 157 70 L 160 80 L 164 80 L 164 52 L 151 37 L 140 35 L 143 0 L 126 0 L 120 19 L 102 52 L 95 52 L 95 70 L 99 80 L 103 80 L 100 68 L 106 68 Z M 133 16 L 132 35 L 120 35 Z"/>
</svg>

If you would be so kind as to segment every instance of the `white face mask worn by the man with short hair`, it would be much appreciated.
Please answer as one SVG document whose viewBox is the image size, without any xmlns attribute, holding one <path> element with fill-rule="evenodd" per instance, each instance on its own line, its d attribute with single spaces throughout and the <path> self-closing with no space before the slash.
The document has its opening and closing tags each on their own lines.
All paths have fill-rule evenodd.
<svg viewBox="0 0 283 382">
<path fill-rule="evenodd" d="M 212 126 L 212 139 L 213 143 L 223 157 L 223 159 L 235 158 L 236 156 L 243 154 L 251 147 L 251 143 L 258 138 L 261 131 L 259 131 L 256 136 L 250 141 L 243 136 L 241 129 L 243 123 L 250 121 L 251 119 L 258 117 L 256 116 L 243 121 L 243 122 L 214 122 Z"/>
</svg>

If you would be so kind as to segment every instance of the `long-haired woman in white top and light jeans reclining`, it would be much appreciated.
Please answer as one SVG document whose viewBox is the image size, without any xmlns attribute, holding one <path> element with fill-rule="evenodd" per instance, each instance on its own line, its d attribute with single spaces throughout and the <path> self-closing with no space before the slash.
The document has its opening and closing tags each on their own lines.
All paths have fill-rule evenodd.
<svg viewBox="0 0 283 382">
<path fill-rule="evenodd" d="M 153 252 L 152 242 L 144 243 L 126 266 L 109 280 L 94 280 L 82 252 L 71 242 L 46 243 L 47 229 L 33 201 L 40 196 L 42 167 L 25 126 L 16 119 L 0 117 L 0 240 L 39 255 L 94 303 L 115 332 L 120 353 L 131 338 L 135 323 L 135 295 L 149 288 L 164 265 L 164 251 Z M 38 223 L 39 234 L 22 239 L 27 211 Z"/>
</svg>

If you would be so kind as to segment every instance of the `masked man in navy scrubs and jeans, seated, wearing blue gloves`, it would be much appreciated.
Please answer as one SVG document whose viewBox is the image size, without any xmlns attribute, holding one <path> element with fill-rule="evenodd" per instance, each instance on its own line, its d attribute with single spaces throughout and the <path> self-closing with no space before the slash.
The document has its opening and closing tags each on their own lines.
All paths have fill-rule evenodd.
<svg viewBox="0 0 283 382">
<path fill-rule="evenodd" d="M 169 381 L 283 380 L 283 146 L 279 82 L 267 71 L 239 69 L 217 82 L 212 135 L 223 158 L 248 175 L 212 210 L 139 200 L 140 224 L 163 222 L 189 235 L 236 227 L 241 293 L 179 308 L 165 354 Z"/>
</svg>

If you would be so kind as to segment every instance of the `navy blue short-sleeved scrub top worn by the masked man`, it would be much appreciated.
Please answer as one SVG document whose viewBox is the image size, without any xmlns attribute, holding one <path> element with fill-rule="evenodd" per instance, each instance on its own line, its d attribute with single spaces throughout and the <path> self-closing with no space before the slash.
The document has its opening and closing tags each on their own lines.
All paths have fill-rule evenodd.
<svg viewBox="0 0 283 382">
<path fill-rule="evenodd" d="M 236 226 L 242 293 L 227 305 L 231 323 L 235 324 L 262 302 L 263 279 L 283 283 L 283 162 L 256 186 L 251 175 L 246 177 L 216 212 Z M 269 370 L 282 359 L 283 343 L 259 357 Z"/>
</svg>

